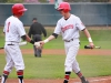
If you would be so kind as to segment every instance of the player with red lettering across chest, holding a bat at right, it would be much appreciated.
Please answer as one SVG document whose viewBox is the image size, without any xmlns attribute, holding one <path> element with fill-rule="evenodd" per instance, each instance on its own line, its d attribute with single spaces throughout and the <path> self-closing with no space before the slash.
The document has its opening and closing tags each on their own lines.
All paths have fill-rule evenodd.
<svg viewBox="0 0 111 83">
<path fill-rule="evenodd" d="M 80 18 L 70 13 L 71 7 L 68 2 L 61 2 L 59 4 L 58 11 L 63 15 L 57 23 L 54 32 L 46 40 L 40 41 L 41 45 L 57 39 L 57 37 L 62 33 L 62 40 L 64 41 L 65 48 L 65 62 L 64 62 L 64 81 L 68 83 L 70 74 L 73 71 L 81 80 L 82 83 L 89 83 L 82 75 L 79 63 L 77 62 L 77 54 L 80 46 L 80 34 L 79 31 L 83 31 L 89 40 L 89 45 L 93 49 L 94 44 L 92 42 L 89 31 L 85 29 Z"/>
</svg>

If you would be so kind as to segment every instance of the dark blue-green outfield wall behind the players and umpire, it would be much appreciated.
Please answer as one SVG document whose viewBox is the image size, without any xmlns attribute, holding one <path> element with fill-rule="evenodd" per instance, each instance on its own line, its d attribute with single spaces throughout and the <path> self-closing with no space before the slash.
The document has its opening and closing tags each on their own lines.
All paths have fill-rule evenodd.
<svg viewBox="0 0 111 83">
<path fill-rule="evenodd" d="M 0 25 L 10 17 L 12 4 L 0 4 Z M 43 25 L 56 25 L 61 14 L 54 9 L 54 4 L 24 4 L 28 11 L 21 17 L 24 25 L 32 23 L 32 18 Z M 111 24 L 110 3 L 71 3 L 71 13 L 81 18 L 85 25 L 109 25 Z"/>
</svg>

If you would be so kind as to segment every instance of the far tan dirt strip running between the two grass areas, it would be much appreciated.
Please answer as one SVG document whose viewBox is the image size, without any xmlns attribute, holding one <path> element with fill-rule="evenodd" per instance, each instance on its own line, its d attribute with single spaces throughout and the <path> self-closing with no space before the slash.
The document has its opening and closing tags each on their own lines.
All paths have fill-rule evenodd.
<svg viewBox="0 0 111 83">
<path fill-rule="evenodd" d="M 23 54 L 33 54 L 33 50 L 21 50 Z M 0 54 L 4 53 L 3 50 L 0 50 Z M 42 54 L 64 54 L 64 50 L 43 50 Z M 101 49 L 87 49 L 87 50 L 79 50 L 79 55 L 111 55 L 111 50 L 101 50 Z"/>
</svg>

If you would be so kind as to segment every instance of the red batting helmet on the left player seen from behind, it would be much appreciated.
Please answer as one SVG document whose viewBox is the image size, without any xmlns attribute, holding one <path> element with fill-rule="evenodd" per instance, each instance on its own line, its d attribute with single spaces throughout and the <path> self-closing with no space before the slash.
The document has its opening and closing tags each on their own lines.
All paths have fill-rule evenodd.
<svg viewBox="0 0 111 83">
<path fill-rule="evenodd" d="M 21 15 L 27 9 L 22 3 L 16 3 L 12 6 L 12 13 L 16 15 Z"/>
</svg>

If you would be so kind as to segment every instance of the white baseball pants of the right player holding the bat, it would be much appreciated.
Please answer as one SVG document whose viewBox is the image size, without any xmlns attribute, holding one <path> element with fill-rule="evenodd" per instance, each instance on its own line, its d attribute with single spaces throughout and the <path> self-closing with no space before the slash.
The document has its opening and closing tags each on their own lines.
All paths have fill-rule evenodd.
<svg viewBox="0 0 111 83">
<path fill-rule="evenodd" d="M 73 39 L 73 41 L 65 42 L 64 41 L 64 48 L 65 48 L 65 62 L 64 62 L 64 71 L 65 72 L 74 72 L 78 73 L 80 71 L 79 63 L 77 62 L 77 54 L 79 51 L 79 39 Z"/>
</svg>

